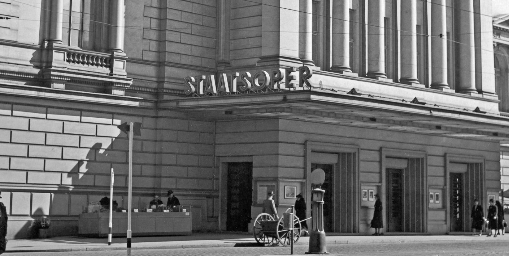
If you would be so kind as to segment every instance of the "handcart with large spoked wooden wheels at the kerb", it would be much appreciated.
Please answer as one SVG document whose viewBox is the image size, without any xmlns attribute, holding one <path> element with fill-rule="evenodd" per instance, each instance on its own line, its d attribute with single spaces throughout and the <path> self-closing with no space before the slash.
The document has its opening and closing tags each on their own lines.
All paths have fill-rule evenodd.
<svg viewBox="0 0 509 256">
<path fill-rule="evenodd" d="M 292 208 L 288 208 L 285 213 L 288 213 L 289 210 Z M 285 216 L 292 216 L 293 232 L 285 227 Z M 301 230 L 300 220 L 295 214 L 282 214 L 278 220 L 275 220 L 272 215 L 261 213 L 253 223 L 254 239 L 258 244 L 264 246 L 277 245 L 277 243 L 282 246 L 290 246 L 291 237 L 293 237 L 293 243 L 296 243 L 300 238 Z"/>
</svg>

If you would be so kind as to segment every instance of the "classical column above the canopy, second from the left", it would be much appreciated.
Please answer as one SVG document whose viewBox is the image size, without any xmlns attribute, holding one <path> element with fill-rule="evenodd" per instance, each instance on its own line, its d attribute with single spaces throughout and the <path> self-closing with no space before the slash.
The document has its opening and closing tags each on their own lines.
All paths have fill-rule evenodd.
<svg viewBox="0 0 509 256">
<path fill-rule="evenodd" d="M 350 1 L 332 2 L 332 72 L 352 72 L 350 67 Z"/>
</svg>

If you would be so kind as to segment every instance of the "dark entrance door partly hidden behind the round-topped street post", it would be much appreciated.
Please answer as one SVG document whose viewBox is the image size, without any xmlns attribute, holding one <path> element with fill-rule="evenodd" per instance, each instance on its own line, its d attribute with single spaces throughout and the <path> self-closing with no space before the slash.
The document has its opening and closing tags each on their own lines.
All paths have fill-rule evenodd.
<svg viewBox="0 0 509 256">
<path fill-rule="evenodd" d="M 325 181 L 322 184 L 322 189 L 325 190 L 323 195 L 323 225 L 325 232 L 332 232 L 332 219 L 334 218 L 332 212 L 332 202 L 334 196 L 334 184 L 333 184 L 333 165 L 327 164 L 311 164 L 311 172 L 315 169 L 322 169 L 325 172 Z M 308 206 L 310 207 L 310 205 Z"/>
</svg>

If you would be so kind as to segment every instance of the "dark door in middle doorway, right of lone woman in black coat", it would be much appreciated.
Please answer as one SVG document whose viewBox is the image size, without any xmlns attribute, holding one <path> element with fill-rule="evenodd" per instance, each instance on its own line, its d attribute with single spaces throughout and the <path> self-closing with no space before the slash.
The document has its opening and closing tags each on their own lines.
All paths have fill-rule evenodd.
<svg viewBox="0 0 509 256">
<path fill-rule="evenodd" d="M 387 169 L 387 232 L 402 232 L 403 170 Z"/>
</svg>

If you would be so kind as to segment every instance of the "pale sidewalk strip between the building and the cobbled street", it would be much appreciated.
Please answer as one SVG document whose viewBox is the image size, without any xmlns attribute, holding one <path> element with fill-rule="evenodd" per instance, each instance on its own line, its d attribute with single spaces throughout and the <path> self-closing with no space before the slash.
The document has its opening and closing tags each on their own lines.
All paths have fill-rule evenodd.
<svg viewBox="0 0 509 256">
<path fill-rule="evenodd" d="M 326 244 L 347 243 L 421 243 L 421 242 L 468 242 L 498 239 L 509 242 L 509 234 L 486 237 L 473 235 L 344 235 L 327 234 Z M 309 237 L 301 237 L 296 245 L 308 244 Z M 48 239 L 9 240 L 6 252 L 47 252 L 47 251 L 93 251 L 125 250 L 126 238 L 114 238 L 108 245 L 107 238 L 54 237 Z M 193 233 L 191 236 L 154 236 L 132 238 L 131 249 L 204 248 L 258 246 L 252 234 L 248 233 Z"/>
</svg>

